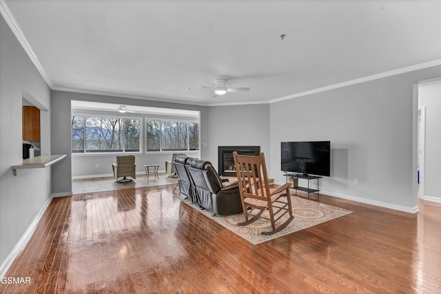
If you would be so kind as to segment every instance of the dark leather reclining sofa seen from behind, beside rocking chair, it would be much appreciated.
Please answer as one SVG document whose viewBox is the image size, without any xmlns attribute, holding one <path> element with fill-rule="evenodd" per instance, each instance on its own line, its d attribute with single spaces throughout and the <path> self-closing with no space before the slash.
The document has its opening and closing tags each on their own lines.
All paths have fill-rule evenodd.
<svg viewBox="0 0 441 294">
<path fill-rule="evenodd" d="M 242 212 L 238 182 L 221 179 L 211 162 L 178 156 L 173 163 L 180 193 L 194 204 L 217 215 Z"/>
</svg>

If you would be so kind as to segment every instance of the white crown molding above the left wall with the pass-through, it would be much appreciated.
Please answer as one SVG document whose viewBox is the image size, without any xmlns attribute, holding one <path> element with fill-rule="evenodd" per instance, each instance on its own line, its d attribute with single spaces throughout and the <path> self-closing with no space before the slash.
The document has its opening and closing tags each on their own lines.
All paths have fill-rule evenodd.
<svg viewBox="0 0 441 294">
<path fill-rule="evenodd" d="M 23 49 L 25 50 L 26 54 L 28 54 L 32 63 L 34 63 L 35 67 L 37 67 L 37 70 L 43 77 L 44 81 L 52 89 L 52 87 L 54 86 L 52 84 L 52 81 L 50 81 L 48 74 L 46 74 L 40 61 L 37 59 L 37 56 L 34 54 L 34 51 L 29 45 L 28 39 L 26 39 L 25 35 L 23 34 L 23 31 L 21 30 L 19 24 L 15 20 L 14 16 L 12 15 L 12 12 L 8 8 L 8 5 L 4 0 L 0 0 L 0 14 L 3 16 L 3 19 L 5 19 L 6 23 L 8 23 L 9 28 L 12 30 L 12 33 L 17 38 L 17 40 L 21 44 L 21 47 L 23 47 Z"/>
</svg>

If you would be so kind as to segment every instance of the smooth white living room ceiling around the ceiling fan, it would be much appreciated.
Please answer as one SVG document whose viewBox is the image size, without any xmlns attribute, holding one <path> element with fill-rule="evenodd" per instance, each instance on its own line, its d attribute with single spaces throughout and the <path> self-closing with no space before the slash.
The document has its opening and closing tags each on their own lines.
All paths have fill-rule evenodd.
<svg viewBox="0 0 441 294">
<path fill-rule="evenodd" d="M 0 0 L 55 90 L 219 105 L 441 64 L 439 0 Z M 280 35 L 286 34 L 285 39 Z M 212 97 L 196 85 L 249 92 Z"/>
</svg>

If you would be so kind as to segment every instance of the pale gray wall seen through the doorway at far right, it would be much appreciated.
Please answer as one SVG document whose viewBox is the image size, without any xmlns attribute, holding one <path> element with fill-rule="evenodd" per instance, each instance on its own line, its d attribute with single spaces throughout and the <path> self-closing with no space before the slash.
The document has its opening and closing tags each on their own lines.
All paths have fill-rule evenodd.
<svg viewBox="0 0 441 294">
<path fill-rule="evenodd" d="M 424 196 L 441 202 L 441 81 L 418 87 L 418 106 L 426 107 Z"/>
</svg>

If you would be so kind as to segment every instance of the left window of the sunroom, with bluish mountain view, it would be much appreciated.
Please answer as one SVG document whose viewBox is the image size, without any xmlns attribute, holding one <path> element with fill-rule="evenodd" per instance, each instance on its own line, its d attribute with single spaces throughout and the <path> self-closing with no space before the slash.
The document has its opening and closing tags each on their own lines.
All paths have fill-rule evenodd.
<svg viewBox="0 0 441 294">
<path fill-rule="evenodd" d="M 140 118 L 72 116 L 72 153 L 140 151 Z"/>
</svg>

